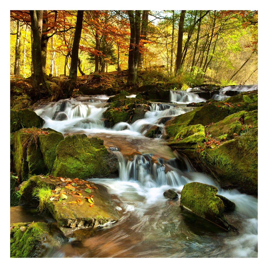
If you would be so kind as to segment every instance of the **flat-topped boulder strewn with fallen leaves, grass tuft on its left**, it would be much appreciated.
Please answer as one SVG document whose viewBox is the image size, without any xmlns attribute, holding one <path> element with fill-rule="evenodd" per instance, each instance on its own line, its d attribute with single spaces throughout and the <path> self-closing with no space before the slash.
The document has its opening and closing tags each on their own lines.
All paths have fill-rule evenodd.
<svg viewBox="0 0 268 268">
<path fill-rule="evenodd" d="M 37 194 L 40 189 L 49 191 L 46 198 L 43 194 L 42 206 L 53 215 L 65 235 L 77 229 L 109 224 L 119 218 L 111 196 L 102 185 L 77 178 L 71 180 L 52 176 L 33 176 L 20 185 L 20 204 L 37 206 L 38 198 L 41 203 L 40 195 Z M 50 196 L 58 198 L 50 200 Z M 91 203 L 86 197 L 92 197 Z"/>
</svg>

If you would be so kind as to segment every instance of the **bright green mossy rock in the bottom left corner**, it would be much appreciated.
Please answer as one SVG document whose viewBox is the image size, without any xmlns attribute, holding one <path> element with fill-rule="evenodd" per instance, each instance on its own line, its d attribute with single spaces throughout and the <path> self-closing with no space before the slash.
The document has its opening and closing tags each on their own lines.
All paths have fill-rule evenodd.
<svg viewBox="0 0 268 268">
<path fill-rule="evenodd" d="M 30 226 L 27 226 L 31 224 Z M 23 232 L 20 227 L 26 227 Z M 49 237 L 49 225 L 44 222 L 10 224 L 10 258 L 41 258 L 42 243 Z"/>
</svg>

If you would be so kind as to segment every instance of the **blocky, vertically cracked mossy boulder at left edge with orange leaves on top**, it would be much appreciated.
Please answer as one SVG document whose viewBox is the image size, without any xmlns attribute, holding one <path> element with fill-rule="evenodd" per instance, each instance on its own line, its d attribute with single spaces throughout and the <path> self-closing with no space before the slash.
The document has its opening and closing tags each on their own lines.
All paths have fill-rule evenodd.
<svg viewBox="0 0 268 268">
<path fill-rule="evenodd" d="M 20 129 L 12 139 L 13 171 L 19 181 L 29 175 L 50 173 L 56 159 L 57 145 L 64 137 L 53 129 Z"/>
</svg>

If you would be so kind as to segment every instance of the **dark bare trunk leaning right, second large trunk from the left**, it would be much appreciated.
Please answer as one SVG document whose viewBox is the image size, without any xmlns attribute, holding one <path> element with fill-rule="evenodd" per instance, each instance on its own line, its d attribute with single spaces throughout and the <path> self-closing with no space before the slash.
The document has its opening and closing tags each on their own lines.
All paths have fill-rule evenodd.
<svg viewBox="0 0 268 268">
<path fill-rule="evenodd" d="M 75 35 L 73 38 L 73 47 L 72 47 L 72 60 L 69 73 L 69 79 L 71 79 L 71 81 L 73 82 L 75 82 L 77 79 L 78 51 L 79 51 L 79 43 L 83 24 L 83 14 L 84 10 L 77 11 Z"/>
</svg>

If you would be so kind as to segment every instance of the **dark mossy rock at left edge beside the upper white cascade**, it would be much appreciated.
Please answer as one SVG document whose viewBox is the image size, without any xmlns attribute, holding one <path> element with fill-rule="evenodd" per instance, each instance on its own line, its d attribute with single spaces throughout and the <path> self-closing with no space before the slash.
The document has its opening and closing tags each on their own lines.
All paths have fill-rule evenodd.
<svg viewBox="0 0 268 268">
<path fill-rule="evenodd" d="M 44 124 L 43 118 L 38 116 L 33 110 L 10 110 L 10 132 L 18 131 L 21 128 L 40 128 Z"/>
</svg>

